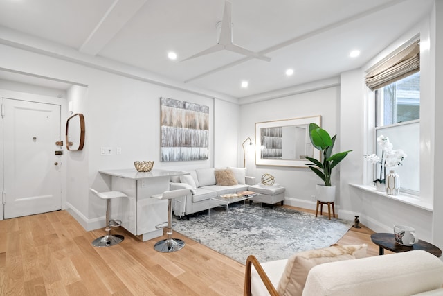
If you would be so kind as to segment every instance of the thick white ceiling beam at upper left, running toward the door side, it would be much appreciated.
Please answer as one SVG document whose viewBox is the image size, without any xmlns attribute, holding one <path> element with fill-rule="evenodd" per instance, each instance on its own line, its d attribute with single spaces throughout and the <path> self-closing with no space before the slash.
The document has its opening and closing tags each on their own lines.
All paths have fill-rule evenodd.
<svg viewBox="0 0 443 296">
<path fill-rule="evenodd" d="M 81 53 L 96 55 L 132 19 L 147 0 L 114 0 L 96 28 L 80 46 Z"/>
</svg>

